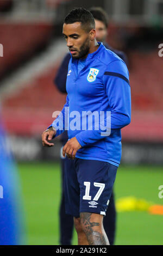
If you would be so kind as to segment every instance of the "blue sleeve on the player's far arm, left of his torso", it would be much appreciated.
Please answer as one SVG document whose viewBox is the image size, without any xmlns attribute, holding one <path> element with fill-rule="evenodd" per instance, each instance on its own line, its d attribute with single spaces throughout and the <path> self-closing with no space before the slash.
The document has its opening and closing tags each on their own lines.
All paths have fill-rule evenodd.
<svg viewBox="0 0 163 256">
<path fill-rule="evenodd" d="M 68 95 L 66 97 L 66 103 L 64 107 L 62 108 L 62 111 L 58 115 L 58 117 L 53 121 L 49 127 L 54 127 L 55 130 L 57 131 L 55 137 L 59 136 L 62 132 L 67 130 L 68 127 L 68 108 L 69 108 L 69 99 Z M 48 128 L 49 128 L 48 127 Z"/>
</svg>

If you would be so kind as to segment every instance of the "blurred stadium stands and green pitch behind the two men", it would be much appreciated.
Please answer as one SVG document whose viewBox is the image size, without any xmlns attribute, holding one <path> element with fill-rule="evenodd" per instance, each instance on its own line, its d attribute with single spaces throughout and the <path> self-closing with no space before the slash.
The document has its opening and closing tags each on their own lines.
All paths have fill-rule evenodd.
<svg viewBox="0 0 163 256">
<path fill-rule="evenodd" d="M 16 179 L 8 182 L 17 191 L 8 204 L 21 202 L 13 206 L 21 232 L 13 229 L 21 239 L 1 237 L 1 244 L 59 244 L 61 144 L 57 138 L 54 148 L 43 148 L 41 133 L 66 99 L 53 82 L 68 51 L 61 36 L 64 17 L 74 7 L 92 6 L 108 13 L 106 41 L 127 54 L 130 74 L 132 115 L 131 124 L 122 129 L 122 161 L 115 181 L 115 244 L 163 244 L 163 1 L 0 0 L 1 134 L 12 155 L 5 157 L 5 163 L 12 161 L 7 168 L 2 153 L 8 149 L 1 144 L 0 216 L 10 198 L 3 173 L 13 172 Z M 14 210 L 14 225 L 12 214 Z M 9 224 L 6 218 L 3 227 L 2 218 L 0 236 Z M 72 243 L 77 244 L 75 233 Z"/>
</svg>

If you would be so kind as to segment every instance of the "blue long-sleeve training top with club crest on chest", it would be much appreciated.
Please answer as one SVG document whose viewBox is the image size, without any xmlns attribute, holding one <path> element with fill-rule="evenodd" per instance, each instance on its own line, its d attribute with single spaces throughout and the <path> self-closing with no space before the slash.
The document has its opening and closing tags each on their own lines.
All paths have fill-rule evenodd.
<svg viewBox="0 0 163 256">
<path fill-rule="evenodd" d="M 120 57 L 107 50 L 101 42 L 98 44 L 97 51 L 88 54 L 79 74 L 78 59 L 71 57 L 66 81 L 66 104 L 51 126 L 57 130 L 56 136 L 68 129 L 68 138 L 77 138 L 82 148 L 77 151 L 76 157 L 118 166 L 121 160 L 121 128 L 130 123 L 131 115 L 129 74 Z M 65 120 L 67 109 L 68 119 L 66 117 Z M 99 115 L 92 115 L 90 125 L 91 119 L 85 113 L 89 113 L 89 117 L 92 113 Z M 105 113 L 104 123 L 98 120 L 101 113 Z M 68 126 L 65 127 L 65 123 Z M 108 136 L 102 136 L 105 132 L 103 126 L 111 128 L 110 135 L 105 133 Z"/>
</svg>

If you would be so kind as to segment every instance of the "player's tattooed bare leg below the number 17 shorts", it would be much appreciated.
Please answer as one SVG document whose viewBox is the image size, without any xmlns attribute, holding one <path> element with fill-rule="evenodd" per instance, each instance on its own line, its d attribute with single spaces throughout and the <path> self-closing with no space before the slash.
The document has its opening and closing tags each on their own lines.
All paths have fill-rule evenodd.
<svg viewBox="0 0 163 256">
<path fill-rule="evenodd" d="M 91 222 L 91 212 L 82 212 L 80 214 L 80 220 L 84 227 L 84 232 L 87 236 L 89 245 L 108 245 L 108 239 L 106 235 L 99 231 L 93 230 L 93 227 L 99 226 L 98 222 Z"/>
</svg>

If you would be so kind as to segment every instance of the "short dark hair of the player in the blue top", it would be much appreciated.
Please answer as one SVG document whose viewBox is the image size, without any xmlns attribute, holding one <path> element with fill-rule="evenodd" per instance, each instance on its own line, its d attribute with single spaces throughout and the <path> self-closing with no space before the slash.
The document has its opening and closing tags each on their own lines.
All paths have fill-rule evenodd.
<svg viewBox="0 0 163 256">
<path fill-rule="evenodd" d="M 73 9 L 65 17 L 64 23 L 72 24 L 74 22 L 81 22 L 83 29 L 86 32 L 90 32 L 95 28 L 95 19 L 89 10 L 86 10 L 82 7 Z"/>
</svg>

